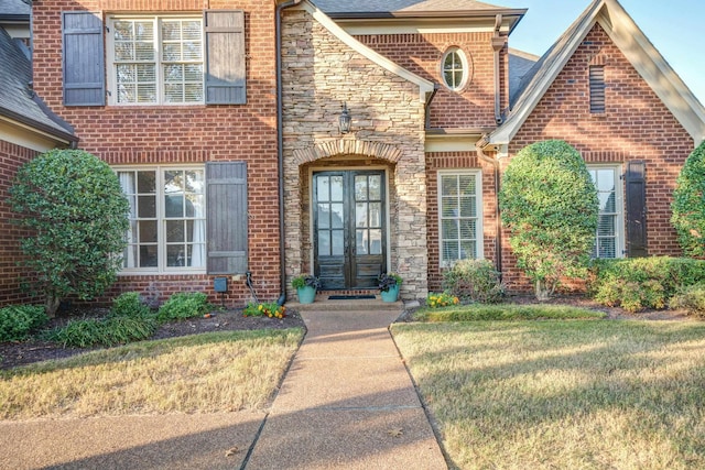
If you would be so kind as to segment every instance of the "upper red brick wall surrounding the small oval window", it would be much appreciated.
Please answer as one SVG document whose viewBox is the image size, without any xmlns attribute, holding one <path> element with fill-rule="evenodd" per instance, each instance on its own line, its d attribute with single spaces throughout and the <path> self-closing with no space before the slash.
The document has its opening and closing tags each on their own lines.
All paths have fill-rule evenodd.
<svg viewBox="0 0 705 470">
<path fill-rule="evenodd" d="M 386 34 L 355 36 L 362 44 L 420 75 L 441 84 L 431 105 L 431 128 L 495 128 L 495 53 L 492 33 Z M 459 92 L 443 85 L 441 59 L 449 47 L 459 47 L 473 74 Z M 501 87 L 505 89 L 507 48 L 501 54 Z M 502 91 L 502 108 L 508 92 Z"/>
</svg>

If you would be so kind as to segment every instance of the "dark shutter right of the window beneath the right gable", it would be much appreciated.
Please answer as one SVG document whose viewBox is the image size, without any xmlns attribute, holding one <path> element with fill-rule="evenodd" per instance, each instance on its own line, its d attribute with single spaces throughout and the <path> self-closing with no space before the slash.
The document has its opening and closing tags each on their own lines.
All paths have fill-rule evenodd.
<svg viewBox="0 0 705 470">
<path fill-rule="evenodd" d="M 644 162 L 627 163 L 627 255 L 647 256 L 647 174 Z"/>
</svg>

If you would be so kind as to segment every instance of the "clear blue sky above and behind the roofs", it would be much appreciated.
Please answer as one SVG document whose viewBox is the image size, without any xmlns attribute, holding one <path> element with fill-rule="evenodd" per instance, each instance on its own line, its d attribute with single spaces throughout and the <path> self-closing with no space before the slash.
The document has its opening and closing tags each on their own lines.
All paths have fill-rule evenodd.
<svg viewBox="0 0 705 470">
<path fill-rule="evenodd" d="M 485 0 L 529 11 L 509 36 L 509 46 L 535 55 L 544 52 L 592 0 Z M 619 0 L 654 47 L 705 103 L 705 0 Z"/>
</svg>

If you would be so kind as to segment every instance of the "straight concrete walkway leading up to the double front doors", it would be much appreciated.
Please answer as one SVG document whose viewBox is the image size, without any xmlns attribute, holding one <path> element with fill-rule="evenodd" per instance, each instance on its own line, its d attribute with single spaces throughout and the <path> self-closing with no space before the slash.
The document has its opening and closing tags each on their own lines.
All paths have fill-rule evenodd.
<svg viewBox="0 0 705 470">
<path fill-rule="evenodd" d="M 398 315 L 302 311 L 308 332 L 248 470 L 447 468 L 387 328 Z"/>
</svg>

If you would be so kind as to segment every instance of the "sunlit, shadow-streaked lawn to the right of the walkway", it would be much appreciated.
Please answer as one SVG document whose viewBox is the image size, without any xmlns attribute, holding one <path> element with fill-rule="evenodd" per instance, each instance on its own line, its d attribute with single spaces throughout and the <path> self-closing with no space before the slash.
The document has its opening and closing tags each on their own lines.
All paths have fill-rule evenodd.
<svg viewBox="0 0 705 470">
<path fill-rule="evenodd" d="M 462 469 L 705 468 L 705 324 L 394 324 Z"/>
</svg>

